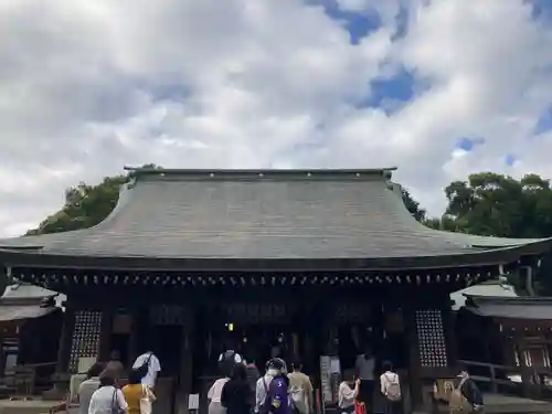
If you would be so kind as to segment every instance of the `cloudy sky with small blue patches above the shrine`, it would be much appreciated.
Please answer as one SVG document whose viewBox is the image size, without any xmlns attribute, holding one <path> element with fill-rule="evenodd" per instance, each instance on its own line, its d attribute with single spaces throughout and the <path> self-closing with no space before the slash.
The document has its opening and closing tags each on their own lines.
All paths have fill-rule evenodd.
<svg viewBox="0 0 552 414">
<path fill-rule="evenodd" d="M 0 235 L 174 168 L 552 177 L 550 0 L 0 0 Z"/>
</svg>

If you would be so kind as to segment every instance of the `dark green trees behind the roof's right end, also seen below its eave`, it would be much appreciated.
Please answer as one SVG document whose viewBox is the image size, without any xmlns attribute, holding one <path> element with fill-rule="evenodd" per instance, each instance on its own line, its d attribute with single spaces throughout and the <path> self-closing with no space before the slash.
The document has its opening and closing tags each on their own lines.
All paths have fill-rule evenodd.
<svg viewBox="0 0 552 414">
<path fill-rule="evenodd" d="M 445 194 L 446 214 L 459 231 L 502 237 L 552 236 L 552 188 L 537 174 L 516 180 L 480 172 L 452 182 Z M 519 294 L 530 290 L 519 275 L 509 275 L 508 280 Z M 552 253 L 540 262 L 532 285 L 538 295 L 552 296 Z"/>
</svg>

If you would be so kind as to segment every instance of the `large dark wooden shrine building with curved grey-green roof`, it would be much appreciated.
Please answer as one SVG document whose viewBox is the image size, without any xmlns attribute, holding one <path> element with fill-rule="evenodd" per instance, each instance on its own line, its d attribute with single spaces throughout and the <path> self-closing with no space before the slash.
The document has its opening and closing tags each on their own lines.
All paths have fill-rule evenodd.
<svg viewBox="0 0 552 414">
<path fill-rule="evenodd" d="M 367 344 L 418 407 L 456 363 L 450 293 L 531 273 L 552 248 L 428 229 L 393 169 L 127 170 L 102 223 L 1 240 L 0 264 L 10 283 L 67 296 L 59 372 L 114 349 L 130 365 L 151 349 L 171 410 L 203 399 L 229 347 L 259 367 L 275 348 L 300 358 L 330 404 L 320 357 L 350 369 Z"/>
</svg>

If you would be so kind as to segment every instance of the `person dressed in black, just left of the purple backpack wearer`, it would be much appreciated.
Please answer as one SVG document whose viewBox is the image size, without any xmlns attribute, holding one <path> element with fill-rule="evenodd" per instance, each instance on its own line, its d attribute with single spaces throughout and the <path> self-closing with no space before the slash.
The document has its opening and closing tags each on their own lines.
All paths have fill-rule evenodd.
<svg viewBox="0 0 552 414">
<path fill-rule="evenodd" d="M 226 408 L 226 414 L 247 414 L 253 407 L 253 400 L 245 365 L 236 363 L 230 381 L 222 389 L 221 405 Z"/>
</svg>

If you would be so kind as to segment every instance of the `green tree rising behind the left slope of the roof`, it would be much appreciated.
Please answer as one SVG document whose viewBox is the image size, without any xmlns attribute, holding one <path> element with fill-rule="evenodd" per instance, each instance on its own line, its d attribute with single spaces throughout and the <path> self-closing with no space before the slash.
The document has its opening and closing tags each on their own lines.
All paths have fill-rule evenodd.
<svg viewBox="0 0 552 414">
<path fill-rule="evenodd" d="M 158 168 L 146 164 L 142 168 Z M 63 208 L 47 216 L 28 235 L 67 232 L 88 229 L 102 222 L 115 209 L 119 199 L 120 185 L 128 181 L 128 176 L 106 177 L 96 185 L 81 182 L 65 190 Z"/>
</svg>

